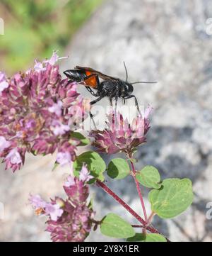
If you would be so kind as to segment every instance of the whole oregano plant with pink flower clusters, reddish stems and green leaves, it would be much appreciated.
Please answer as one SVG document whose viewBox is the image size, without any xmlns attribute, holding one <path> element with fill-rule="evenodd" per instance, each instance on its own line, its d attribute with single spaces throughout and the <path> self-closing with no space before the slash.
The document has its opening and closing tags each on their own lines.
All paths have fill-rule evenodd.
<svg viewBox="0 0 212 256">
<path fill-rule="evenodd" d="M 45 201 L 38 194 L 29 196 L 35 213 L 46 216 L 46 231 L 52 241 L 84 241 L 91 230 L 98 228 L 102 235 L 126 241 L 169 241 L 153 226 L 153 218 L 175 218 L 187 210 L 193 200 L 192 182 L 187 178 L 161 179 L 151 163 L 135 167 L 136 150 L 146 143 L 152 108 L 148 106 L 132 121 L 117 109 L 112 110 L 107 113 L 105 128 L 81 134 L 83 121 L 90 117 L 89 100 L 78 94 L 76 82 L 62 79 L 56 65 L 58 60 L 54 52 L 49 60 L 35 61 L 32 69 L 11 78 L 0 72 L 0 157 L 6 169 L 13 172 L 20 169 L 26 152 L 33 155 L 57 152 L 52 169 L 58 172 L 60 166 L 69 165 L 64 197 L 52 195 L 52 199 Z M 83 151 L 81 147 L 85 145 L 93 146 L 93 150 Z M 77 153 L 79 148 L 81 153 Z M 107 155 L 122 152 L 124 157 L 113 158 L 106 165 L 100 152 Z M 122 182 L 129 176 L 138 193 L 142 216 L 107 186 L 107 179 Z M 112 196 L 140 224 L 129 223 L 111 212 L 96 219 L 90 186 Z M 149 215 L 143 201 L 145 189 L 151 204 Z"/>
</svg>

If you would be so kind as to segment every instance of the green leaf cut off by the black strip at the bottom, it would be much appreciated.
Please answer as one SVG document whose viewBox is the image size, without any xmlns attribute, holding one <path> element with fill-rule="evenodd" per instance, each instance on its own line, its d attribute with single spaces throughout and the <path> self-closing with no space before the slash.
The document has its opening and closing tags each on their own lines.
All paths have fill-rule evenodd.
<svg viewBox="0 0 212 256">
<path fill-rule="evenodd" d="M 136 233 L 131 238 L 127 238 L 127 242 L 166 242 L 166 239 L 163 235 L 155 234 L 155 233 L 149 233 L 149 234 L 142 234 L 142 233 Z"/>
</svg>

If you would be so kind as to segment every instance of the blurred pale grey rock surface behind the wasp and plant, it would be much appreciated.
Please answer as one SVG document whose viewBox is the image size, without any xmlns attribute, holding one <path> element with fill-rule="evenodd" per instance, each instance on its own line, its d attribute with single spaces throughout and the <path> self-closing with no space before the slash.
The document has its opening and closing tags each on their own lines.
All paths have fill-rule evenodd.
<svg viewBox="0 0 212 256">
<path fill-rule="evenodd" d="M 177 241 L 212 240 L 212 221 L 206 219 L 206 204 L 212 201 L 212 35 L 206 33 L 206 20 L 210 17 L 210 0 L 106 1 L 66 49 L 69 61 L 61 63 L 61 71 L 82 65 L 124 78 L 124 60 L 129 81 L 158 81 L 134 86 L 139 104 L 151 104 L 154 108 L 148 143 L 137 152 L 136 167 L 154 165 L 160 169 L 163 179 L 192 179 L 193 206 L 174 220 L 154 219 L 158 229 Z M 90 96 L 84 88 L 81 91 Z M 29 162 L 33 166 L 28 167 Z M 35 219 L 31 209 L 25 206 L 30 190 L 46 196 L 61 193 L 58 182 L 61 172 L 52 175 L 45 165 L 49 163 L 37 167 L 34 158 L 30 158 L 24 169 L 15 175 L 1 172 L 4 183 L 0 201 L 6 201 L 9 212 L 1 240 L 48 239 L 42 233 L 43 221 Z M 17 178 L 28 168 L 40 171 Z M 107 184 L 141 213 L 130 177 L 118 182 L 108 178 Z M 113 211 L 136 223 L 103 191 L 93 188 L 93 193 L 99 219 Z M 112 239 L 98 232 L 91 234 L 88 240 Z"/>
</svg>

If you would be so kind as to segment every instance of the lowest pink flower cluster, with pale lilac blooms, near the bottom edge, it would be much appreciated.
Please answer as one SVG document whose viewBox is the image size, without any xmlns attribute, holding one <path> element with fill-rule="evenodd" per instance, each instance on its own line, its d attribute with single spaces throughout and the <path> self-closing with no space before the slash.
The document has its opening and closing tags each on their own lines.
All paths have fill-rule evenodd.
<svg viewBox="0 0 212 256">
<path fill-rule="evenodd" d="M 81 242 L 88 236 L 95 215 L 87 206 L 89 189 L 86 182 L 91 179 L 88 169 L 83 166 L 80 177 L 69 176 L 64 184 L 68 199 L 56 197 L 50 203 L 39 195 L 30 196 L 30 204 L 37 215 L 48 216 L 47 231 L 54 242 Z"/>
</svg>

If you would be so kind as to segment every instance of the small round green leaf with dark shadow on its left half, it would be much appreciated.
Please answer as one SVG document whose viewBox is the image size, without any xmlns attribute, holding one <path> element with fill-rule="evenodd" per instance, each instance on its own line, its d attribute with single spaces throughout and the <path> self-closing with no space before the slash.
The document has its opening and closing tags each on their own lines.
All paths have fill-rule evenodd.
<svg viewBox="0 0 212 256">
<path fill-rule="evenodd" d="M 107 167 L 107 175 L 112 179 L 124 179 L 129 172 L 129 165 L 123 158 L 114 158 Z"/>
</svg>

